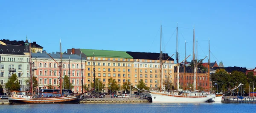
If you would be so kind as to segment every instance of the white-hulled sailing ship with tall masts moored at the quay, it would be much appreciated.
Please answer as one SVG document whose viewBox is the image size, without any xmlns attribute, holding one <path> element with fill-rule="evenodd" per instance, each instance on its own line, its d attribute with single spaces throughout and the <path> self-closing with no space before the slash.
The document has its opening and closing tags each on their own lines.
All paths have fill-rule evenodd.
<svg viewBox="0 0 256 113">
<path fill-rule="evenodd" d="M 161 32 L 160 32 L 161 33 L 161 35 L 160 35 L 160 70 L 162 70 L 162 65 L 163 65 L 162 50 L 161 50 L 162 25 L 160 26 L 160 29 L 161 29 Z M 178 27 L 177 27 L 177 30 L 178 30 Z M 194 28 L 194 35 L 193 35 L 193 44 L 194 43 L 195 43 L 195 28 Z M 176 49 L 177 49 L 177 47 L 176 47 Z M 178 78 L 180 63 L 178 62 L 177 50 L 176 50 L 176 58 L 177 58 L 177 78 Z M 187 58 L 185 58 L 185 60 Z M 193 60 L 195 61 L 194 45 L 193 45 Z M 212 92 L 197 92 L 196 91 L 196 89 L 195 89 L 195 86 L 196 86 L 195 72 L 196 72 L 196 66 L 194 67 L 194 92 L 182 91 L 182 89 L 179 88 L 179 81 L 178 81 L 179 79 L 177 79 L 177 91 L 170 91 L 170 92 L 162 91 L 163 77 L 161 75 L 162 73 L 160 72 L 160 82 L 161 82 L 160 91 L 147 91 L 149 94 L 151 94 L 152 102 L 207 102 L 209 99 L 214 98 L 215 94 L 212 94 Z M 146 91 L 146 90 L 143 89 L 143 91 Z"/>
</svg>

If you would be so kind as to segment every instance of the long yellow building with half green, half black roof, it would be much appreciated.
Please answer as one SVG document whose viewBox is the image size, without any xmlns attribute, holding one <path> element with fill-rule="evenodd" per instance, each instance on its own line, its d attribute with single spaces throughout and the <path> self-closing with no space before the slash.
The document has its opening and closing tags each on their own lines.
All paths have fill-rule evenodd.
<svg viewBox="0 0 256 113">
<path fill-rule="evenodd" d="M 108 79 L 113 77 L 119 85 L 128 80 L 132 85 L 137 85 L 143 79 L 149 88 L 160 87 L 160 60 L 159 53 L 149 52 L 125 52 L 111 50 L 87 50 L 69 49 L 68 54 L 80 55 L 81 52 L 86 57 L 85 83 L 93 82 L 93 53 L 95 62 L 95 78 L 103 81 L 104 86 L 108 84 Z M 163 54 L 163 80 L 168 77 L 170 82 L 174 77 L 174 59 L 168 54 Z M 106 92 L 106 88 L 104 88 Z"/>
</svg>

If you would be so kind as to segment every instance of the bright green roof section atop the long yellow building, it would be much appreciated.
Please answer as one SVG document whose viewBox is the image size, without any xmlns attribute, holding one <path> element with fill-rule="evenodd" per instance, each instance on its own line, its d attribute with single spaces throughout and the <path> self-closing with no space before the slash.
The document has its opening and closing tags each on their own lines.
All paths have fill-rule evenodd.
<svg viewBox="0 0 256 113">
<path fill-rule="evenodd" d="M 125 51 L 111 51 L 111 50 L 88 50 L 80 49 L 85 55 L 93 57 L 93 52 L 95 57 L 106 57 L 106 58 L 133 58 L 131 55 L 127 54 Z"/>
</svg>

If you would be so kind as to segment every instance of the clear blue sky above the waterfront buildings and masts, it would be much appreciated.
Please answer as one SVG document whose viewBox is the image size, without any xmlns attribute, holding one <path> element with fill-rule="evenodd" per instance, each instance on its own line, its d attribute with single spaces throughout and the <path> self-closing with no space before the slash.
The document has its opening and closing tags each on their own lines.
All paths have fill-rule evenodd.
<svg viewBox="0 0 256 113">
<path fill-rule="evenodd" d="M 253 0 L 5 0 L 0 1 L 0 39 L 36 41 L 47 52 L 70 48 L 192 54 L 224 66 L 256 67 Z M 196 47 L 195 47 L 196 48 Z M 175 56 L 173 57 L 175 58 Z M 189 58 L 191 60 L 192 57 Z M 205 60 L 207 62 L 208 58 Z M 176 62 L 176 61 L 175 61 Z"/>
</svg>

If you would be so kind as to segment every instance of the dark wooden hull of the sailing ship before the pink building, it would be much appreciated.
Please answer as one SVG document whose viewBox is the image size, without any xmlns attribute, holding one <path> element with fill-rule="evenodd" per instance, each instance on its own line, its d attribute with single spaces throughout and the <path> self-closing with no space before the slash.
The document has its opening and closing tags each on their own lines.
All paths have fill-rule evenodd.
<svg viewBox="0 0 256 113">
<path fill-rule="evenodd" d="M 79 103 L 79 98 L 78 96 L 38 99 L 12 97 L 9 98 L 9 102 L 10 104 Z"/>
</svg>

